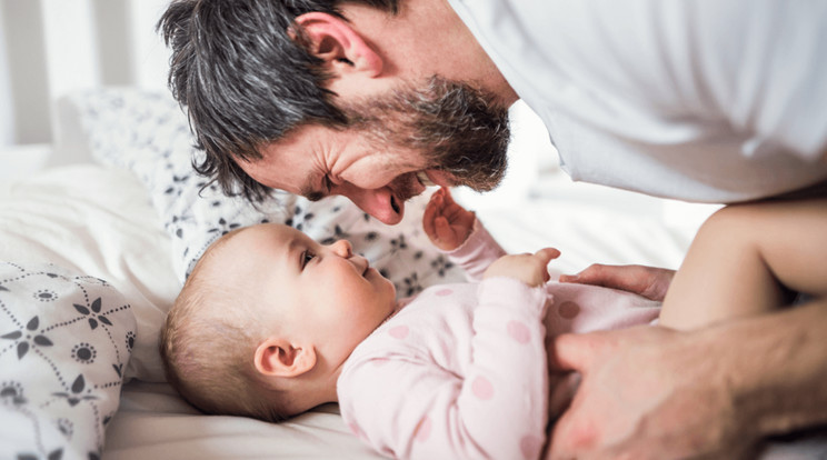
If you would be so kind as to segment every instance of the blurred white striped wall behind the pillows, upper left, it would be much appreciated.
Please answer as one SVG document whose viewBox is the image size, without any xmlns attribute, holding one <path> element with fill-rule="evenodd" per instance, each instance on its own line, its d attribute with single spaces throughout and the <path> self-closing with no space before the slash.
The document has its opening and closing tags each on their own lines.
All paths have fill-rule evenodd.
<svg viewBox="0 0 827 460">
<path fill-rule="evenodd" d="M 0 149 L 54 139 L 52 102 L 100 86 L 166 88 L 168 0 L 0 0 Z"/>
</svg>

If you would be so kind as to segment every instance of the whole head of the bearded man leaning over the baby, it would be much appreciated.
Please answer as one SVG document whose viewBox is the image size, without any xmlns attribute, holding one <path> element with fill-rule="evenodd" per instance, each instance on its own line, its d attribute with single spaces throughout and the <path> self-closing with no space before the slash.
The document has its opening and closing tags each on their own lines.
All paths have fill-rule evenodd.
<svg viewBox="0 0 827 460">
<path fill-rule="evenodd" d="M 173 52 L 170 87 L 207 153 L 199 172 L 251 200 L 270 188 L 343 194 L 386 223 L 399 222 L 403 201 L 430 182 L 496 187 L 506 104 L 482 84 L 438 77 L 437 64 L 411 74 L 407 56 L 382 44 L 393 29 L 371 29 L 387 21 L 361 21 L 417 17 L 403 7 L 173 2 L 159 27 Z"/>
</svg>

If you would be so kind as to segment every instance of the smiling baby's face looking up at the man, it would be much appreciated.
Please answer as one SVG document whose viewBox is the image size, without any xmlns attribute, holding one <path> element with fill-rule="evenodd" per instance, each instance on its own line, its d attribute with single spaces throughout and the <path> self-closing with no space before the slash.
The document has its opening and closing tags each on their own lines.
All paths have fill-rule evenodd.
<svg viewBox="0 0 827 460">
<path fill-rule="evenodd" d="M 346 240 L 323 246 L 267 223 L 242 230 L 222 253 L 232 259 L 228 270 L 257 290 L 257 308 L 279 309 L 289 333 L 309 338 L 331 361 L 343 362 L 396 307 L 393 283 Z"/>
</svg>

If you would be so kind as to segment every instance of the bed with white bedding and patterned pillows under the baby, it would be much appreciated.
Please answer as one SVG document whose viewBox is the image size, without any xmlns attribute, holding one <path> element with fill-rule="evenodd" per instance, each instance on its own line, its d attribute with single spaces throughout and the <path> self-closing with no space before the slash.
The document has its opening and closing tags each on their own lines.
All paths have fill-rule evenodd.
<svg viewBox="0 0 827 460">
<path fill-rule="evenodd" d="M 462 279 L 421 231 L 427 194 L 396 227 L 338 198 L 277 193 L 257 209 L 203 187 L 186 117 L 162 89 L 99 84 L 67 91 L 51 111 L 59 136 L 42 161 L 14 174 L 14 154 L 30 150 L 0 157 L 0 458 L 380 458 L 336 404 L 279 424 L 201 414 L 165 382 L 158 333 L 205 248 L 262 221 L 350 239 L 402 297 Z M 571 183 L 538 121 L 512 112 L 506 183 L 456 191 L 508 251 L 555 246 L 558 272 L 679 266 L 716 207 Z M 827 438 L 777 440 L 764 457 L 827 458 Z"/>
</svg>

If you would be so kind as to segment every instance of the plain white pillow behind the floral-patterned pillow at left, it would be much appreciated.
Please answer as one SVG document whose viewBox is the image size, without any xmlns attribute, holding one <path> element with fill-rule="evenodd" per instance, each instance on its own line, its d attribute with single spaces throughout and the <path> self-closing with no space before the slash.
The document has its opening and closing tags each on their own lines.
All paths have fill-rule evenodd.
<svg viewBox="0 0 827 460">
<path fill-rule="evenodd" d="M 169 237 L 129 171 L 63 167 L 11 184 L 0 193 L 0 260 L 53 263 L 107 280 L 137 319 L 124 376 L 163 381 L 158 334 L 180 283 Z"/>
</svg>

